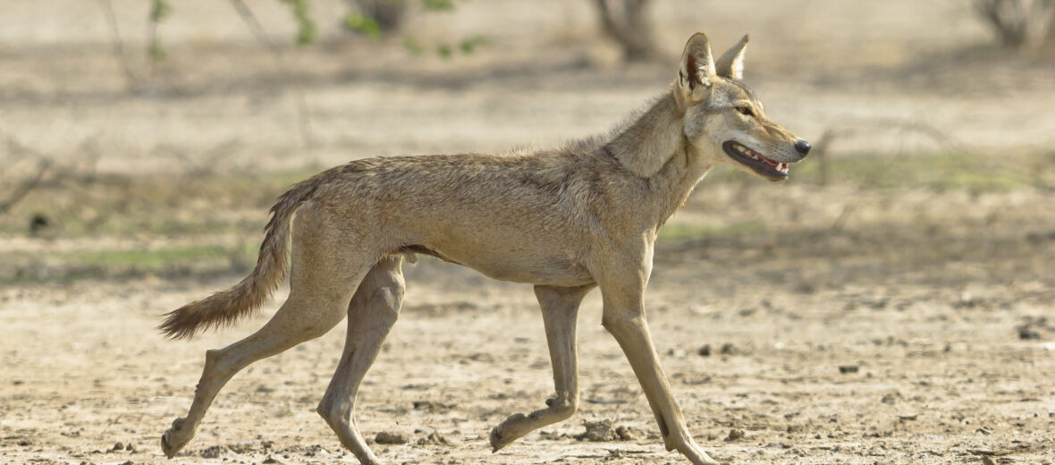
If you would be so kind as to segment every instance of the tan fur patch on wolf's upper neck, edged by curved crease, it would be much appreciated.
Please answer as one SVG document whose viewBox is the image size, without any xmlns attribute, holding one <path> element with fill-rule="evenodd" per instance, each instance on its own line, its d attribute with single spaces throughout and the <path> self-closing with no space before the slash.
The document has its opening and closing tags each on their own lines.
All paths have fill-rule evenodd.
<svg viewBox="0 0 1055 465">
<path fill-rule="evenodd" d="M 606 148 L 627 170 L 651 178 L 684 149 L 682 134 L 682 114 L 673 94 L 667 93 Z"/>
</svg>

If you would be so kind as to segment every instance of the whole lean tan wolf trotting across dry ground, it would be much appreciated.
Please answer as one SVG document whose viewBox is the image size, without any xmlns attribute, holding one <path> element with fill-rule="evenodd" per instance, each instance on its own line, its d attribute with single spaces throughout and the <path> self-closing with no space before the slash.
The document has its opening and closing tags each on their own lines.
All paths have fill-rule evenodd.
<svg viewBox="0 0 1055 465">
<path fill-rule="evenodd" d="M 594 288 L 655 414 L 667 450 L 715 464 L 689 433 L 645 318 L 656 232 L 718 164 L 787 178 L 809 142 L 766 118 L 741 81 L 748 37 L 715 63 L 696 34 L 674 82 L 612 133 L 552 150 L 370 158 L 320 173 L 271 208 L 260 258 L 234 287 L 168 313 L 172 338 L 249 315 L 289 268 L 289 297 L 258 331 L 206 352 L 186 418 L 161 435 L 173 457 L 216 393 L 249 364 L 319 337 L 348 316 L 344 354 L 318 412 L 361 463 L 380 463 L 351 416 L 360 383 L 403 302 L 404 259 L 416 254 L 535 286 L 556 393 L 491 431 L 494 450 L 570 418 L 579 405 L 575 325 Z M 295 219 L 294 219 L 295 213 Z"/>
</svg>

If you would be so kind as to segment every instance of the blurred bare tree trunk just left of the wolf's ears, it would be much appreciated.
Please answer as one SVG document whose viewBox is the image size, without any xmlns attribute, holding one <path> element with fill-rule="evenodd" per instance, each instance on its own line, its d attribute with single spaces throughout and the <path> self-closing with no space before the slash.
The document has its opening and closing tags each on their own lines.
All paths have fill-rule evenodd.
<svg viewBox="0 0 1055 465">
<path fill-rule="evenodd" d="M 625 61 L 645 61 L 656 57 L 652 22 L 648 15 L 649 0 L 595 0 L 594 4 L 605 34 L 622 47 Z"/>
</svg>

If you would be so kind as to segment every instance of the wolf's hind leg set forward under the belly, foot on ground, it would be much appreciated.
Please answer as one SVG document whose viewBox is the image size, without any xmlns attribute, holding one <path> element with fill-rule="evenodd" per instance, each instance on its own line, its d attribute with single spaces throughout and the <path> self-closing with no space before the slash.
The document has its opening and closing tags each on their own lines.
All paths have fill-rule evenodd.
<svg viewBox="0 0 1055 465">
<path fill-rule="evenodd" d="M 351 450 L 363 465 L 377 465 L 379 462 L 352 419 L 356 395 L 363 376 L 377 359 L 385 336 L 399 316 L 404 289 L 402 261 L 402 256 L 382 258 L 363 278 L 351 297 L 344 354 L 316 409 L 337 432 L 341 444 Z"/>
</svg>

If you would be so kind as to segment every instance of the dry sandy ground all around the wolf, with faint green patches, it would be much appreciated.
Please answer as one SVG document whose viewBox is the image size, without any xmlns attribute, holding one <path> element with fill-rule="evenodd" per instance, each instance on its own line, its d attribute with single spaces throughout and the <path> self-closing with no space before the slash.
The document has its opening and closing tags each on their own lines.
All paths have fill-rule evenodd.
<svg viewBox="0 0 1055 465">
<path fill-rule="evenodd" d="M 281 47 L 286 67 L 227 2 L 173 2 L 169 58 L 151 65 L 140 3 L 113 2 L 131 77 L 98 3 L 0 5 L 0 199 L 54 167 L 0 213 L 0 464 L 357 463 L 314 413 L 343 325 L 237 375 L 165 459 L 205 351 L 285 290 L 189 343 L 159 337 L 159 314 L 235 283 L 271 199 L 308 173 L 600 132 L 673 70 L 616 65 L 587 2 L 556 1 L 416 17 L 423 43 L 490 38 L 453 59 L 321 23 L 321 44 Z M 249 3 L 291 37 L 277 2 Z M 655 9 L 672 56 L 696 30 L 718 47 L 750 32 L 769 116 L 830 142 L 825 168 L 807 158 L 781 185 L 717 170 L 663 231 L 646 304 L 697 442 L 736 464 L 1055 463 L 1052 61 L 991 49 L 960 1 L 754 3 Z M 596 291 L 579 412 L 492 454 L 491 428 L 553 390 L 531 288 L 427 257 L 405 272 L 356 413 L 366 437 L 406 438 L 375 444 L 382 460 L 687 463 L 664 450 Z"/>
</svg>

